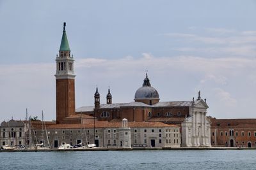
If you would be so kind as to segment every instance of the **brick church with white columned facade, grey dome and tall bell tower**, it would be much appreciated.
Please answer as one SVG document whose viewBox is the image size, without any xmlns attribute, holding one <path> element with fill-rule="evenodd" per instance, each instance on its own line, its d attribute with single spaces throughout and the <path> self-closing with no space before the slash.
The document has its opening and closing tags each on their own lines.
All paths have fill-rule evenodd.
<svg viewBox="0 0 256 170">
<path fill-rule="evenodd" d="M 113 122 L 144 122 L 167 124 L 179 127 L 181 146 L 211 146 L 211 125 L 207 119 L 206 99 L 192 101 L 161 102 L 157 90 L 151 86 L 148 74 L 131 103 L 112 103 L 110 89 L 106 103 L 100 103 L 96 88 L 94 106 L 83 106 L 75 110 L 74 58 L 70 56 L 65 23 L 59 55 L 56 57 L 56 123 L 57 124 L 109 124 Z"/>
</svg>

